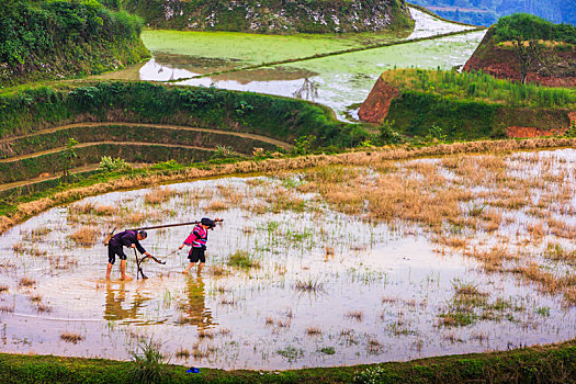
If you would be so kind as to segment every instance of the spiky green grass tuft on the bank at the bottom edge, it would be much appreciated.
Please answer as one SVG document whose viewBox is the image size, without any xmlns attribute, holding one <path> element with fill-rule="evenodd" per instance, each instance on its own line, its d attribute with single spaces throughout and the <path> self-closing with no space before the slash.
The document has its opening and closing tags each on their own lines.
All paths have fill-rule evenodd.
<svg viewBox="0 0 576 384">
<path fill-rule="evenodd" d="M 169 382 L 169 371 L 163 364 L 160 346 L 153 339 L 140 341 L 137 349 L 131 352 L 135 366 L 129 372 L 131 384 L 159 384 Z"/>
</svg>

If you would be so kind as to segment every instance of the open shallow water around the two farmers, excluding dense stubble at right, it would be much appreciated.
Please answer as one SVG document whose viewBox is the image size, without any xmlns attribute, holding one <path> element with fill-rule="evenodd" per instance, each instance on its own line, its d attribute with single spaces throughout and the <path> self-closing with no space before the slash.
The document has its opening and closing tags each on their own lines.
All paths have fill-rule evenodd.
<svg viewBox="0 0 576 384">
<path fill-rule="evenodd" d="M 72 207 L 117 207 L 115 218 L 63 206 L 12 228 L 0 237 L 1 350 L 128 359 L 139 339 L 153 338 L 177 363 L 287 369 L 501 350 L 575 336 L 576 308 L 563 307 L 562 297 L 509 274 L 486 275 L 475 261 L 432 245 L 416 225 L 370 225 L 337 213 L 316 194 L 294 192 L 298 183 L 297 174 L 181 183 L 170 185 L 174 194 L 160 205 L 145 203 L 147 190 L 109 193 Z M 146 262 L 146 281 L 118 281 L 116 263 L 106 282 L 101 235 L 134 213 L 144 222 L 122 228 L 224 217 L 210 233 L 201 275 L 180 273 L 187 266 L 182 250 L 166 266 Z M 98 244 L 80 247 L 70 238 L 81 226 L 100 231 Z M 143 245 L 162 258 L 190 229 L 149 230 Z M 259 267 L 228 266 L 237 251 Z M 134 255 L 127 255 L 135 276 Z M 23 278 L 35 283 L 23 286 Z M 489 319 L 440 325 L 454 285 L 466 283 L 488 293 L 488 303 L 505 304 Z M 65 332 L 82 340 L 67 342 Z M 177 357 L 179 351 L 190 355 Z"/>
</svg>

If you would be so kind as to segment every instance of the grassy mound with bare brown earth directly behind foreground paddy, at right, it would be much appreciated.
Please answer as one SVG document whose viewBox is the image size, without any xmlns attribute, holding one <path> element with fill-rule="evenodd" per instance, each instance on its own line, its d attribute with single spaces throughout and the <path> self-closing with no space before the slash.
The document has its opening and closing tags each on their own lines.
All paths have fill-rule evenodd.
<svg viewBox="0 0 576 384">
<path fill-rule="evenodd" d="M 397 69 L 382 74 L 359 115 L 414 136 L 545 136 L 576 124 L 576 91 L 482 72 Z"/>
</svg>

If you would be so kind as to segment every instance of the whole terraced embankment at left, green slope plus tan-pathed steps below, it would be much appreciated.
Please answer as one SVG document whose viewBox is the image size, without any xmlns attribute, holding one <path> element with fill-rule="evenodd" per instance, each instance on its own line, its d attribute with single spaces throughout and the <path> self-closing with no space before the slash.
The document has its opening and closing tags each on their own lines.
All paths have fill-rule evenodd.
<svg viewBox="0 0 576 384">
<path fill-rule="evenodd" d="M 362 128 L 336 121 L 317 104 L 213 88 L 58 83 L 7 90 L 0 104 L 3 196 L 54 187 L 65 168 L 94 172 L 103 156 L 133 163 L 191 163 L 255 150 L 286 151 L 301 136 L 313 137 L 314 146 L 335 147 L 365 137 Z M 65 163 L 70 138 L 79 144 Z M 38 185 L 30 188 L 33 183 Z"/>
</svg>

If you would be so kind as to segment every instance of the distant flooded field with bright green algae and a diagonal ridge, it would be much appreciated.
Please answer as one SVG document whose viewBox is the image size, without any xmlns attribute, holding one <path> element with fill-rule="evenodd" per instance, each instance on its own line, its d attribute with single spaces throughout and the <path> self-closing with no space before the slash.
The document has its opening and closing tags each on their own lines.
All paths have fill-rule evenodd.
<svg viewBox="0 0 576 384">
<path fill-rule="evenodd" d="M 185 79 L 177 83 L 300 98 L 330 106 L 341 120 L 355 121 L 358 104 L 365 100 L 384 70 L 394 67 L 450 69 L 462 66 L 485 32 L 252 70 L 241 68 L 471 29 L 438 20 L 415 9 L 411 9 L 411 13 L 416 27 L 409 36 L 392 32 L 278 36 L 229 32 L 145 31 L 142 37 L 153 54 L 153 59 L 137 67 L 106 74 L 103 78 L 149 81 Z M 226 70 L 234 71 L 216 74 Z M 205 77 L 191 79 L 200 75 Z"/>
</svg>

